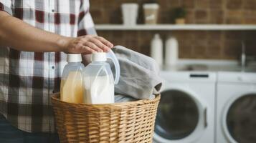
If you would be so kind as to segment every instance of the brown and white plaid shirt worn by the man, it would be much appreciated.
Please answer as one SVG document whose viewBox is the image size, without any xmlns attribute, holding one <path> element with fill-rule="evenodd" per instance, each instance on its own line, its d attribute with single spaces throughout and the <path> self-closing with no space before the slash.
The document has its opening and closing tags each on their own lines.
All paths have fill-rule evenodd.
<svg viewBox="0 0 256 143">
<path fill-rule="evenodd" d="M 88 10 L 89 0 L 0 0 L 0 11 L 63 36 L 95 31 Z M 62 52 L 0 47 L 0 114 L 23 131 L 55 132 L 50 94 L 60 91 L 65 64 Z"/>
</svg>

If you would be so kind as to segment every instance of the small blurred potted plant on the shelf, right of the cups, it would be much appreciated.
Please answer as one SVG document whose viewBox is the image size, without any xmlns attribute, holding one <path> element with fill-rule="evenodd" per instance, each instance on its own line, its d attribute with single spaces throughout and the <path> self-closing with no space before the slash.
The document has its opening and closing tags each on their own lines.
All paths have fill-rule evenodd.
<svg viewBox="0 0 256 143">
<path fill-rule="evenodd" d="M 186 9 L 177 7 L 174 9 L 174 21 L 176 24 L 185 24 Z"/>
</svg>

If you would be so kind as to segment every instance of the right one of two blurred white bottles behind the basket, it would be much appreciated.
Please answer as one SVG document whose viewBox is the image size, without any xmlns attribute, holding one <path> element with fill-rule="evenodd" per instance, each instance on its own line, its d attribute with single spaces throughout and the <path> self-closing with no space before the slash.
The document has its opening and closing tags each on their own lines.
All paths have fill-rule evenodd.
<svg viewBox="0 0 256 143">
<path fill-rule="evenodd" d="M 179 59 L 179 44 L 175 37 L 171 36 L 166 40 L 165 64 L 175 66 Z"/>
</svg>

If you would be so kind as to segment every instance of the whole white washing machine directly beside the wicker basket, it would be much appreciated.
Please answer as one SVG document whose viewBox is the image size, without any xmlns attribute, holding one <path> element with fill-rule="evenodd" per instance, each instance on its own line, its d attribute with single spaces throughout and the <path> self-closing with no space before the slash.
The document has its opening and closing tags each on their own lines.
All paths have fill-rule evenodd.
<svg viewBox="0 0 256 143">
<path fill-rule="evenodd" d="M 161 71 L 163 91 L 153 142 L 214 143 L 217 75 L 208 71 Z"/>
</svg>

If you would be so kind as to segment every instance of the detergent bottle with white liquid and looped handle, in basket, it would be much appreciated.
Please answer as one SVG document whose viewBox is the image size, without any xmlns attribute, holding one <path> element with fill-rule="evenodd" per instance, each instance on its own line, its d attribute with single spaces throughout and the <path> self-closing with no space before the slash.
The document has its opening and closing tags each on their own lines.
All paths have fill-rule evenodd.
<svg viewBox="0 0 256 143">
<path fill-rule="evenodd" d="M 115 81 L 110 64 L 111 59 L 115 65 Z M 91 56 L 92 62 L 83 71 L 84 103 L 85 104 L 111 104 L 115 102 L 115 87 L 120 78 L 120 66 L 113 51 L 108 54 L 100 52 Z"/>
</svg>

